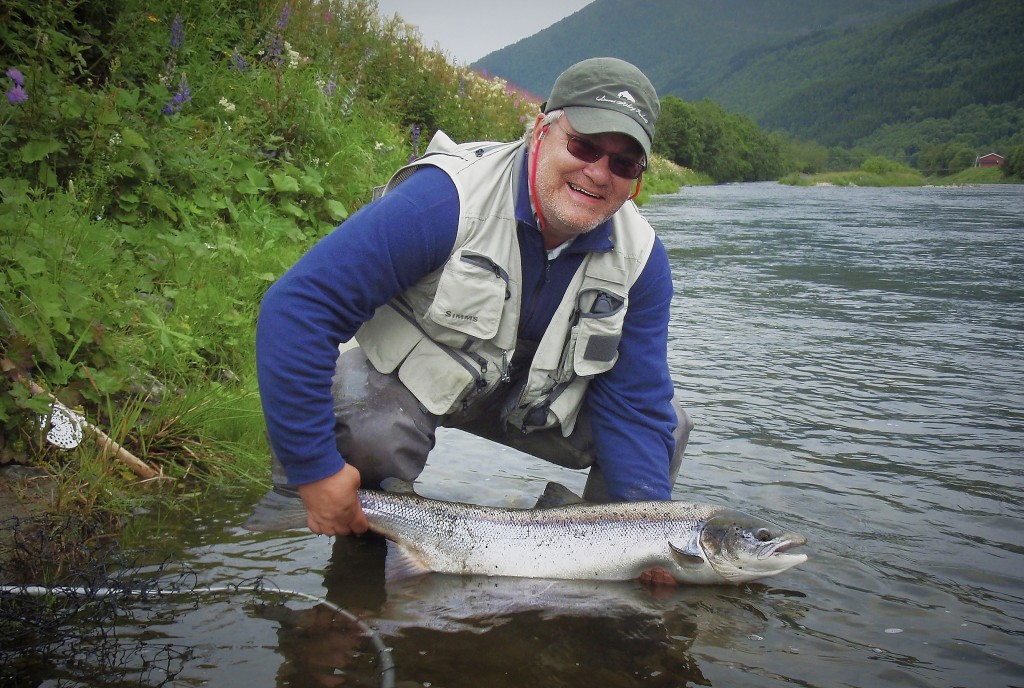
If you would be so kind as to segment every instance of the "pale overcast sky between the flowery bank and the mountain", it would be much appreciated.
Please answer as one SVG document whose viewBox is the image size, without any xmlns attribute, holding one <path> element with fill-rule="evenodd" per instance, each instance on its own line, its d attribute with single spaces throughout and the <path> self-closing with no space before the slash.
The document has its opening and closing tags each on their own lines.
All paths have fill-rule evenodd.
<svg viewBox="0 0 1024 688">
<path fill-rule="evenodd" d="M 423 44 L 437 43 L 453 61 L 468 64 L 520 38 L 532 36 L 593 0 L 378 0 L 380 14 L 395 12 L 418 27 Z"/>
</svg>

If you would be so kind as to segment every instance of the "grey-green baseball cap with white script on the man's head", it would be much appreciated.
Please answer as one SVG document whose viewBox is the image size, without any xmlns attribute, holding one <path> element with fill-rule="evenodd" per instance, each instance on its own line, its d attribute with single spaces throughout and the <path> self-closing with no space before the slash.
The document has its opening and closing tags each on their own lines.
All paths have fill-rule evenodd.
<svg viewBox="0 0 1024 688">
<path fill-rule="evenodd" d="M 564 110 L 581 134 L 631 136 L 650 158 L 662 103 L 650 80 L 633 64 L 617 57 L 592 57 L 558 76 L 542 110 Z"/>
</svg>

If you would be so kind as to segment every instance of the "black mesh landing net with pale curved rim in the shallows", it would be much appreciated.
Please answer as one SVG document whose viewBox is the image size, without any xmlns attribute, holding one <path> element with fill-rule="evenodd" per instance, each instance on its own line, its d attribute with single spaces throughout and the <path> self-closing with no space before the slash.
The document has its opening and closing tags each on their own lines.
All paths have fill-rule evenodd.
<svg viewBox="0 0 1024 688">
<path fill-rule="evenodd" d="M 371 670 L 364 674 L 372 677 L 372 685 L 392 685 L 389 648 L 365 622 L 327 600 L 278 589 L 262 577 L 204 586 L 195 570 L 173 561 L 139 563 L 115 547 L 97 545 L 102 539 L 95 535 L 95 524 L 75 517 L 44 527 L 24 519 L 0 525 L 13 533 L 14 554 L 0 561 L 0 580 L 14 573 L 24 579 L 19 557 L 49 557 L 50 562 L 63 557 L 59 583 L 0 585 L 2 686 L 174 683 L 187 675 L 189 662 L 202 658 L 196 656 L 196 643 L 154 629 L 173 625 L 189 610 L 202 612 L 211 602 L 273 621 L 285 631 L 283 645 L 342 639 L 331 648 L 329 663 L 350 662 L 341 656 L 346 652 L 364 655 Z M 286 604 L 296 599 L 302 602 L 298 608 Z"/>
</svg>

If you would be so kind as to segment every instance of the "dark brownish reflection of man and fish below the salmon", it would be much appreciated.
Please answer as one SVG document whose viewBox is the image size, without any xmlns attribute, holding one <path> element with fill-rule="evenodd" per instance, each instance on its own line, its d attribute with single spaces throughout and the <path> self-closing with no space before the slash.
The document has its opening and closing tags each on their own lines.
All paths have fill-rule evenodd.
<svg viewBox="0 0 1024 688">
<path fill-rule="evenodd" d="M 324 587 L 391 647 L 397 685 L 710 685 L 695 645 L 745 650 L 779 618 L 799 626 L 806 609 L 801 593 L 756 584 L 652 591 L 433 573 L 388 580 L 386 557 L 382 540 L 340 539 Z M 343 672 L 353 680 L 346 662 L 366 651 L 357 629 L 315 607 L 263 616 L 281 622 L 279 685 L 339 685 Z"/>
</svg>

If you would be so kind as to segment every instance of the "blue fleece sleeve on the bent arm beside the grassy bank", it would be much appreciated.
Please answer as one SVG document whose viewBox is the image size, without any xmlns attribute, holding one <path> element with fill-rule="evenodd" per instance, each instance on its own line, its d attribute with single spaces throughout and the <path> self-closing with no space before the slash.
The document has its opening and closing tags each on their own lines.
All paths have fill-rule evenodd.
<svg viewBox="0 0 1024 688">
<path fill-rule="evenodd" d="M 443 265 L 455 245 L 459 197 L 424 167 L 345 220 L 264 296 L 256 372 L 270 445 L 292 484 L 344 466 L 335 446 L 331 378 L 338 345 L 374 311 Z"/>
</svg>

